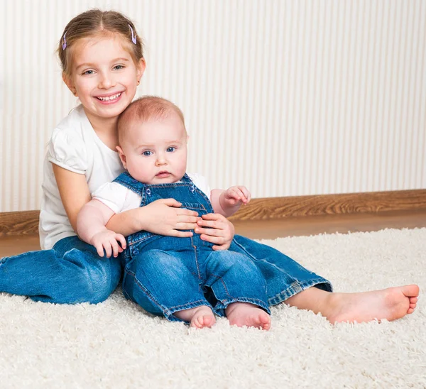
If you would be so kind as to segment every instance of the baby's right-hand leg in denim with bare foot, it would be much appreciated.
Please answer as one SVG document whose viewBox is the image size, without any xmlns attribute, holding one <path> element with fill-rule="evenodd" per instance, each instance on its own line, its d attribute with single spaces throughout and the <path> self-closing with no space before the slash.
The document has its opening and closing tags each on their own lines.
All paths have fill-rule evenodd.
<svg viewBox="0 0 426 389">
<path fill-rule="evenodd" d="M 216 309 L 225 309 L 229 324 L 270 329 L 266 312 L 266 281 L 253 261 L 233 251 L 214 251 L 207 258 L 206 285 L 219 300 Z"/>
</svg>

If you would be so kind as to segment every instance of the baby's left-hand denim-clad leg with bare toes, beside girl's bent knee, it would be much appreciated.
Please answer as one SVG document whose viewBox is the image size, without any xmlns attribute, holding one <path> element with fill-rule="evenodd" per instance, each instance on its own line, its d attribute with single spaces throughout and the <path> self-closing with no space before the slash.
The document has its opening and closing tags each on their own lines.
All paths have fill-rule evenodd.
<svg viewBox="0 0 426 389">
<path fill-rule="evenodd" d="M 123 292 L 129 300 L 170 321 L 212 327 L 215 319 L 211 305 L 196 271 L 187 268 L 187 253 L 151 249 L 127 259 Z"/>
</svg>

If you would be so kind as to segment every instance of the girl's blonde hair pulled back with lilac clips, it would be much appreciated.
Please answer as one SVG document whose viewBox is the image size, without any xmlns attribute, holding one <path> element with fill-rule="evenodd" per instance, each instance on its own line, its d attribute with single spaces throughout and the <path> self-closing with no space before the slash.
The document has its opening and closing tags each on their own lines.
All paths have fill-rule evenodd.
<svg viewBox="0 0 426 389">
<path fill-rule="evenodd" d="M 72 18 L 65 27 L 56 50 L 61 62 L 62 72 L 65 75 L 71 75 L 72 47 L 77 40 L 114 36 L 116 34 L 121 35 L 124 42 L 127 42 L 126 49 L 129 50 L 137 65 L 139 60 L 143 58 L 143 43 L 129 18 L 116 11 L 101 11 L 100 9 L 90 9 Z"/>
</svg>

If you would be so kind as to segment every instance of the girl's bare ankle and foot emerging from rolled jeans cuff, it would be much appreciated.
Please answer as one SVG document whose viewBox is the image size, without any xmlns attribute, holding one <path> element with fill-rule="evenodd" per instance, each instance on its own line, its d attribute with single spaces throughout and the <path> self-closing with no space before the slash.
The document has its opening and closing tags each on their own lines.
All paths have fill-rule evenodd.
<svg viewBox="0 0 426 389">
<path fill-rule="evenodd" d="M 359 293 L 330 293 L 310 287 L 285 301 L 291 307 L 321 312 L 332 324 L 395 320 L 414 312 L 419 287 L 405 285 Z"/>
</svg>

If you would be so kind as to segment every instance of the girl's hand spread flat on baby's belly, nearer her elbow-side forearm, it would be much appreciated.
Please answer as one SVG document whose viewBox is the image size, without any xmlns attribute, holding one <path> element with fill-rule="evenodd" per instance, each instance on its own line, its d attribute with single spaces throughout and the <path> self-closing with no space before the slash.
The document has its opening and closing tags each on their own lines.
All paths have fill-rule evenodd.
<svg viewBox="0 0 426 389">
<path fill-rule="evenodd" d="M 175 199 L 158 199 L 146 207 L 141 207 L 140 209 L 146 208 L 143 216 L 146 218 L 144 223 L 146 226 L 143 229 L 160 235 L 181 238 L 192 236 L 192 231 L 180 230 L 195 229 L 200 217 L 197 212 L 180 208 L 181 206 L 182 204 Z"/>
</svg>

